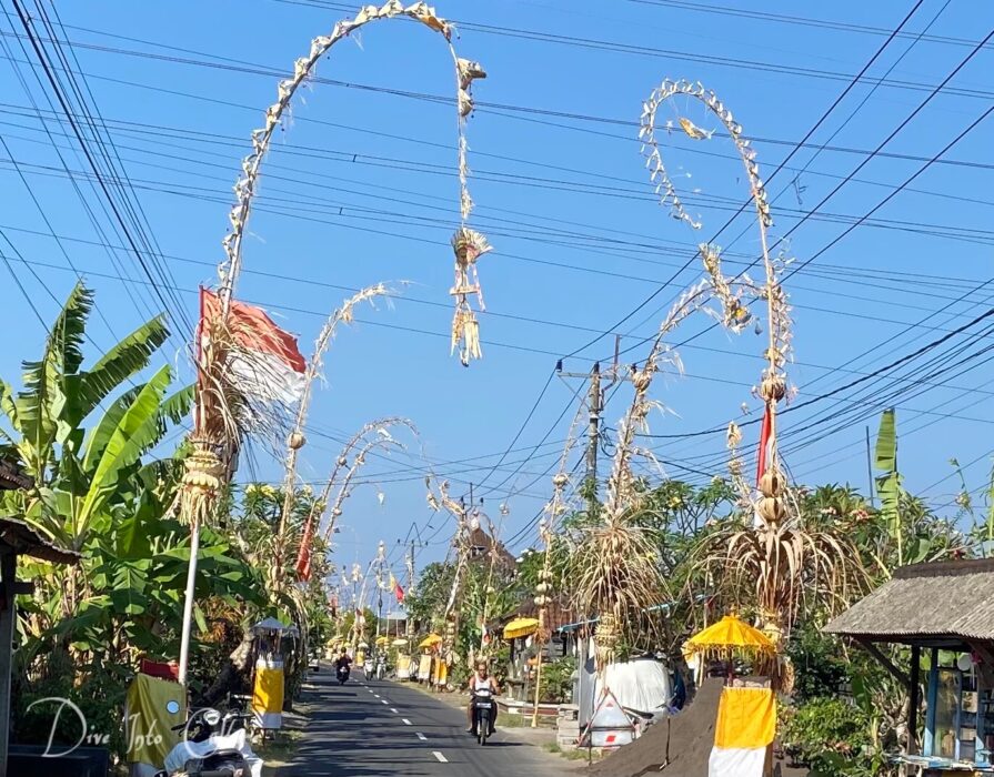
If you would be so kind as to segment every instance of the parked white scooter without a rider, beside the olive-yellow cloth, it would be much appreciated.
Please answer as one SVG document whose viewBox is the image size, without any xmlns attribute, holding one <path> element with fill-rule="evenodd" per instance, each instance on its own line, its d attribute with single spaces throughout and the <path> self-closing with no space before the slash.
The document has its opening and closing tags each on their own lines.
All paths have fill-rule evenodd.
<svg viewBox="0 0 994 777">
<path fill-rule="evenodd" d="M 249 746 L 245 723 L 251 715 L 217 709 L 193 712 L 187 723 L 173 726 L 183 740 L 165 756 L 155 777 L 262 777 L 262 759 Z"/>
</svg>

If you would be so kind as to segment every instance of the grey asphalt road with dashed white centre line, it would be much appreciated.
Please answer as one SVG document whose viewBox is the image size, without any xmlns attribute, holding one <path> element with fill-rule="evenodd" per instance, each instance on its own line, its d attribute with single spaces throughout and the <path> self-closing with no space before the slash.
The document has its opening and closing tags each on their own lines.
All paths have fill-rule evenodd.
<svg viewBox="0 0 994 777">
<path fill-rule="evenodd" d="M 498 731 L 481 747 L 465 715 L 402 683 L 367 679 L 340 686 L 322 667 L 307 692 L 313 710 L 289 773 L 293 777 L 564 777 L 575 767 Z M 282 770 L 281 770 L 281 774 Z"/>
</svg>

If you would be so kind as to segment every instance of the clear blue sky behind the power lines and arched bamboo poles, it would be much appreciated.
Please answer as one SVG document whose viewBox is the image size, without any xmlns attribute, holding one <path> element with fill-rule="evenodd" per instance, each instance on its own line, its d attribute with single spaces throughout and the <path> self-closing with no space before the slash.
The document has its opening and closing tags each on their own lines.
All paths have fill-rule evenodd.
<svg viewBox="0 0 994 777">
<path fill-rule="evenodd" d="M 351 14 L 325 0 L 94 0 L 57 7 L 168 265 L 175 299 L 192 320 L 197 286 L 213 282 L 221 258 L 231 185 L 250 148 L 249 134 L 274 99 L 278 79 L 270 71 L 289 72 L 314 36 Z M 42 91 L 37 71 L 26 63 L 26 41 L 17 37 L 23 29 L 11 16 L 12 4 L 3 8 L 0 137 L 19 170 L 0 149 L 0 229 L 16 251 L 2 240 L 0 250 L 46 321 L 57 309 L 49 292 L 61 300 L 76 280 L 71 261 L 96 287 L 102 316 L 123 335 L 161 303 L 143 283 L 132 251 L 99 244 L 120 249 L 124 240 L 99 210 L 91 184 L 79 179 L 106 236 L 82 208 L 51 141 L 62 147 L 70 171 L 86 171 L 86 160 L 64 121 L 46 114 L 42 124 L 34 113 L 34 104 L 49 110 L 51 92 Z M 311 413 L 301 466 L 307 480 L 327 477 L 337 441 L 371 418 L 406 416 L 421 433 L 420 441 L 409 440 L 410 456 L 367 470 L 370 484 L 347 505 L 343 521 L 350 528 L 341 535 L 341 561 L 371 558 L 381 538 L 394 549 L 412 522 L 434 543 L 420 552 L 419 566 L 444 555 L 451 525 L 425 507 L 419 447 L 440 475 L 450 477 L 454 494 L 468 491 L 470 482 L 482 483 L 475 493 L 495 522 L 499 505 L 506 503 L 503 534 L 520 535 L 515 547 L 534 541 L 533 531 L 521 529 L 550 493 L 546 473 L 579 406 L 574 392 L 583 390 L 579 381 L 549 380 L 556 359 L 596 339 L 565 367 L 585 372 L 593 360 L 606 363 L 614 339 L 598 339 L 604 332 L 623 335 L 622 347 L 632 347 L 624 361 L 644 357 L 649 345 L 637 343 L 654 332 L 675 295 L 699 279 L 697 264 L 614 325 L 669 281 L 697 242 L 713 238 L 747 194 L 727 140 L 693 143 L 673 135 L 664 159 L 704 226 L 695 233 L 669 218 L 654 203 L 639 154 L 642 101 L 663 78 L 702 81 L 755 139 L 761 174 L 769 174 L 912 3 L 846 0 L 811 16 L 797 8 L 731 0 L 438 4 L 440 14 L 464 22 L 455 40 L 460 54 L 489 72 L 475 87 L 480 107 L 468 137 L 478 203 L 471 223 L 495 251 L 480 265 L 488 303 L 481 316 L 485 357 L 469 370 L 449 357 L 446 342 L 448 239 L 458 221 L 454 109 L 432 99 L 451 97 L 444 44 L 412 23 L 378 22 L 322 62 L 320 77 L 352 85 L 313 84 L 297 101 L 263 168 L 239 294 L 300 333 L 308 353 L 323 317 L 348 290 L 410 281 L 391 304 L 362 311 L 360 321 L 340 333 L 327 360 L 328 384 Z M 774 238 L 851 175 L 992 28 L 994 8 L 922 2 L 904 27 L 907 34 L 891 41 L 809 145 L 770 182 Z M 27 53 L 37 64 L 33 52 Z M 800 391 L 796 402 L 837 392 L 783 418 L 785 458 L 803 482 L 849 481 L 865 488 L 865 427 L 875 432 L 876 424 L 866 418 L 896 404 L 900 465 L 908 490 L 953 512 L 950 503 L 958 490 L 948 464 L 953 456 L 971 463 L 970 488 L 983 490 L 991 464 L 992 373 L 984 340 L 970 336 L 983 334 L 984 322 L 883 376 L 891 380 L 841 387 L 990 309 L 994 291 L 984 283 L 994 275 L 988 228 L 994 120 L 967 133 L 871 221 L 820 252 L 990 107 L 994 94 L 984 75 L 992 65 L 988 46 L 859 171 L 857 180 L 847 181 L 790 236 L 790 255 L 799 262 L 819 254 L 787 282 L 795 307 L 796 363 L 789 372 Z M 77 79 L 82 83 L 81 75 Z M 358 88 L 370 85 L 378 89 Z M 702 127 L 710 121 L 686 102 L 674 103 L 672 115 Z M 757 234 L 746 216 L 717 243 L 726 246 L 729 270 L 757 255 Z M 0 278 L 7 291 L 0 323 L 16 333 L 0 352 L 0 374 L 12 380 L 19 361 L 38 353 L 44 332 L 6 266 Z M 697 315 L 673 340 L 711 324 Z M 189 377 L 182 353 L 189 331 L 178 317 L 173 326 L 177 337 L 164 357 L 182 364 Z M 92 336 L 96 357 L 111 341 L 98 316 Z M 653 432 L 680 435 L 723 426 L 741 415 L 743 402 L 757 417 L 750 386 L 762 367 L 764 342 L 751 332 L 733 336 L 712 330 L 681 347 L 685 375 L 660 376 L 654 386 L 673 414 L 655 417 Z M 952 359 L 957 353 L 960 361 L 970 361 L 957 366 Z M 931 364 L 932 359 L 940 361 Z M 500 462 L 540 393 L 513 446 L 518 450 Z M 624 385 L 612 392 L 608 424 L 616 424 L 626 396 Z M 755 430 L 746 427 L 750 445 Z M 693 481 L 724 472 L 723 434 L 651 443 L 661 460 L 673 463 L 674 476 L 685 474 L 681 466 L 701 473 L 690 475 Z M 279 470 L 261 458 L 259 476 L 278 478 Z M 378 488 L 386 497 L 382 505 Z"/>
</svg>

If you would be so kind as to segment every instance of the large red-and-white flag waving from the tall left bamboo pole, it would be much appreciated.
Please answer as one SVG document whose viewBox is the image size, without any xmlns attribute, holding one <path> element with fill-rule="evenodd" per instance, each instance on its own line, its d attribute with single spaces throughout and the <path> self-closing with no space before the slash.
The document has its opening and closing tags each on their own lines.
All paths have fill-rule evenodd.
<svg viewBox="0 0 994 777">
<path fill-rule="evenodd" d="M 221 300 L 200 290 L 201 317 L 221 315 Z M 292 405 L 304 387 L 307 362 L 297 346 L 297 337 L 273 323 L 261 307 L 231 300 L 228 325 L 237 350 L 228 356 L 234 382 L 247 394 L 262 402 Z M 203 330 L 204 335 L 209 327 Z"/>
</svg>

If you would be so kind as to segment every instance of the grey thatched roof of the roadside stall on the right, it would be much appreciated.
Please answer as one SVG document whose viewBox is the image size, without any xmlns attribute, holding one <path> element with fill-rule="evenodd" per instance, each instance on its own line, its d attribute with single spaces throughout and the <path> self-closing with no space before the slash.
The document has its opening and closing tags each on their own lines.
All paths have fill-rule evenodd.
<svg viewBox="0 0 994 777">
<path fill-rule="evenodd" d="M 994 558 L 913 564 L 824 628 L 870 642 L 994 642 Z"/>
</svg>

